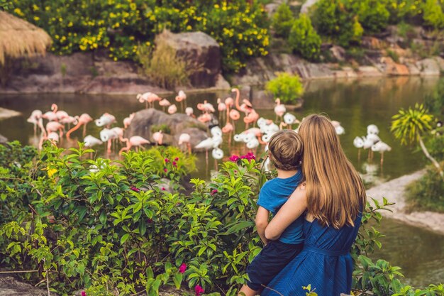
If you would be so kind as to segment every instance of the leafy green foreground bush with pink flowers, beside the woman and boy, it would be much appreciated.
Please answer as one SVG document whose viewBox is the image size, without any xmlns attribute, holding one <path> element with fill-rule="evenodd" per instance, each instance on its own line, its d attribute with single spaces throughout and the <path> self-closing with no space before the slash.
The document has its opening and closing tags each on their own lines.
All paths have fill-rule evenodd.
<svg viewBox="0 0 444 296">
<path fill-rule="evenodd" d="M 59 295 L 152 296 L 197 285 L 206 295 L 237 294 L 260 251 L 252 219 L 266 180 L 260 163 L 251 155 L 223 163 L 211 182 L 192 180 L 186 194 L 179 183 L 189 164 L 177 148 L 130 152 L 119 161 L 89 160 L 90 151 L 0 146 L 1 268 L 38 270 L 21 275 L 48 281 Z M 355 295 L 414 295 L 397 280 L 399 268 L 367 258 L 383 236 L 370 221 L 379 223 L 388 205 L 373 204 L 351 251 Z M 443 295 L 444 286 L 424 291 Z"/>
</svg>

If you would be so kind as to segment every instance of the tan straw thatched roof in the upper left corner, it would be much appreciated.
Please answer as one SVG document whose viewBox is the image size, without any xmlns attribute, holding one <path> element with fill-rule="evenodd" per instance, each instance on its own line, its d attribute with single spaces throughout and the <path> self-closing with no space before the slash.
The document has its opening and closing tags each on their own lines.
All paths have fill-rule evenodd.
<svg viewBox="0 0 444 296">
<path fill-rule="evenodd" d="M 6 57 L 45 54 L 52 40 L 43 29 L 0 11 L 0 66 Z"/>
</svg>

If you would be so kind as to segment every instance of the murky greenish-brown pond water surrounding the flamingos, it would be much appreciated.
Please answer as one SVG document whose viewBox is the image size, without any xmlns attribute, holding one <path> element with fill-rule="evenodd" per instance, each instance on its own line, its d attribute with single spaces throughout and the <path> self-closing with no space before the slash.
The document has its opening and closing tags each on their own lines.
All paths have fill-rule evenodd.
<svg viewBox="0 0 444 296">
<path fill-rule="evenodd" d="M 331 119 L 340 121 L 345 134 L 340 136 L 341 145 L 355 168 L 362 175 L 367 187 L 405 175 L 423 168 L 426 163 L 421 153 L 412 148 L 399 145 L 389 131 L 391 117 L 401 107 L 423 102 L 425 94 L 433 91 L 437 78 L 399 77 L 366 80 L 313 81 L 306 82 L 303 96 L 304 109 L 293 114 L 302 119 L 313 112 L 323 112 Z M 234 96 L 230 92 L 188 94 L 187 105 L 193 106 L 206 99 L 216 106 L 218 97 Z M 167 96 L 174 102 L 174 95 Z M 34 109 L 48 111 L 52 103 L 69 114 L 88 113 L 94 119 L 109 112 L 116 116 L 118 126 L 122 126 L 123 118 L 131 112 L 145 107 L 135 96 L 104 95 L 104 94 L 0 94 L 0 107 L 20 111 L 21 116 L 0 120 L 0 134 L 9 140 L 18 140 L 23 144 L 37 145 L 39 139 L 34 136 L 33 125 L 26 119 Z M 254 99 L 253 99 L 254 105 Z M 272 109 L 258 110 L 260 116 L 274 119 Z M 376 124 L 379 136 L 385 143 L 392 146 L 392 151 L 384 155 L 384 165 L 379 163 L 379 154 L 372 161 L 367 160 L 367 153 L 357 157 L 357 149 L 353 146 L 356 136 L 365 136 L 367 125 Z M 245 126 L 236 125 L 239 133 Z M 101 128 L 88 124 L 87 133 L 99 137 Z M 225 143 L 227 139 L 224 138 Z M 67 143 L 61 143 L 62 146 Z M 222 146 L 226 160 L 232 153 L 245 153 L 240 143 Z M 99 147 L 99 155 L 104 154 L 104 147 Z M 260 154 L 260 150 L 257 151 Z M 108 155 L 117 158 L 116 153 Z M 215 163 L 206 163 L 205 153 L 197 154 L 198 171 L 193 177 L 209 180 Z M 211 158 L 211 157 L 210 157 Z M 387 197 L 389 199 L 389 197 Z M 383 240 L 384 249 L 375 256 L 387 259 L 393 265 L 403 268 L 407 281 L 413 285 L 427 285 L 444 281 L 444 236 L 429 233 L 422 229 L 399 224 L 385 219 L 382 232 L 387 234 Z M 435 246 L 434 248 L 432 246 Z M 377 258 L 377 257 L 374 257 Z"/>
</svg>

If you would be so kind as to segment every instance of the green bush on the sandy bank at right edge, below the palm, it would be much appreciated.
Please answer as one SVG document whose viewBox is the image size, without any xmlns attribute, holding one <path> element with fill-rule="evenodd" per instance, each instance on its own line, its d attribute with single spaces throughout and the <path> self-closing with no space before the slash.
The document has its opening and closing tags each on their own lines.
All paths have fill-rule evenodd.
<svg viewBox="0 0 444 296">
<path fill-rule="evenodd" d="M 444 182 L 435 170 L 427 170 L 426 174 L 412 182 L 406 191 L 411 211 L 444 213 Z"/>
</svg>

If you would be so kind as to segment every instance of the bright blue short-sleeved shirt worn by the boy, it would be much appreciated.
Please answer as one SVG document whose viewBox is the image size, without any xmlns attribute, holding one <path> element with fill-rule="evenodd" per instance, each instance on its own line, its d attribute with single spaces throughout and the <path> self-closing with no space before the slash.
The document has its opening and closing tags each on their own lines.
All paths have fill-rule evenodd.
<svg viewBox="0 0 444 296">
<path fill-rule="evenodd" d="M 260 207 L 267 209 L 272 212 L 273 216 L 277 213 L 282 204 L 287 202 L 288 198 L 299 183 L 302 180 L 301 170 L 298 170 L 296 174 L 292 177 L 285 179 L 276 177 L 272 180 L 265 182 L 259 192 L 259 199 L 257 199 L 257 204 Z M 302 230 L 302 225 L 304 224 L 304 217 L 299 216 L 298 219 L 293 221 L 287 229 L 284 230 L 282 235 L 279 237 L 279 241 L 282 243 L 302 243 L 304 241 L 304 233 Z"/>
</svg>

